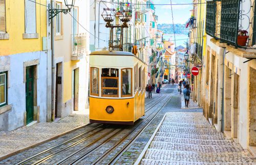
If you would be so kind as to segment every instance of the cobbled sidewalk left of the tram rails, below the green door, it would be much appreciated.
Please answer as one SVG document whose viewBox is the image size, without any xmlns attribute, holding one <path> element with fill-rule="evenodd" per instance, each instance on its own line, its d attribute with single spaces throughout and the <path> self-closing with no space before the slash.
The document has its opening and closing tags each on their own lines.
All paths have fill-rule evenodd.
<svg viewBox="0 0 256 165">
<path fill-rule="evenodd" d="M 88 114 L 73 114 L 57 122 L 38 123 L 10 132 L 0 132 L 0 160 L 49 142 L 89 123 Z"/>
</svg>

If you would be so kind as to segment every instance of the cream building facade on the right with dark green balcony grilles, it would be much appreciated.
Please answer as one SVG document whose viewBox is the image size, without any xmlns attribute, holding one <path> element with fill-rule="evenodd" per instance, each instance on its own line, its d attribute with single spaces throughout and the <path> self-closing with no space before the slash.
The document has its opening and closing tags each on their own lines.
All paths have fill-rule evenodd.
<svg viewBox="0 0 256 165">
<path fill-rule="evenodd" d="M 256 146 L 253 4 L 254 1 L 236 0 L 207 1 L 203 7 L 196 5 L 197 11 L 202 8 L 201 14 L 202 11 L 206 13 L 205 29 L 197 30 L 196 34 L 203 36 L 200 38 L 206 48 L 203 46 L 202 76 L 195 79 L 193 91 L 193 97 L 203 106 L 209 123 L 249 151 Z M 198 21 L 197 18 L 197 28 L 201 19 L 200 23 Z M 240 36 L 245 36 L 245 43 L 240 43 L 243 38 Z M 196 43 L 200 45 L 200 41 Z"/>
</svg>

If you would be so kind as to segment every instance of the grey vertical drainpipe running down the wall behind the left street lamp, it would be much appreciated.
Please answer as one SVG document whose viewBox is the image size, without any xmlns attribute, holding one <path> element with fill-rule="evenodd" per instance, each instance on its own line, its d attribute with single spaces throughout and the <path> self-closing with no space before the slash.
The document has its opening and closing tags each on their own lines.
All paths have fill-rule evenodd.
<svg viewBox="0 0 256 165">
<path fill-rule="evenodd" d="M 51 0 L 51 7 L 54 8 L 54 0 Z M 54 19 L 51 19 L 51 47 L 52 47 L 52 121 L 54 121 L 55 108 L 55 62 L 54 62 Z"/>
</svg>

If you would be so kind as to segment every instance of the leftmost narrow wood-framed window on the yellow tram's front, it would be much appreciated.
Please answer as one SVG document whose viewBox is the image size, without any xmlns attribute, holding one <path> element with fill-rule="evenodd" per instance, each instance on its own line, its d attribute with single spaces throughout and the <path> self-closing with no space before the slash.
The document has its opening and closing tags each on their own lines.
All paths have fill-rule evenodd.
<svg viewBox="0 0 256 165">
<path fill-rule="evenodd" d="M 91 67 L 91 95 L 99 96 L 99 69 Z"/>
</svg>

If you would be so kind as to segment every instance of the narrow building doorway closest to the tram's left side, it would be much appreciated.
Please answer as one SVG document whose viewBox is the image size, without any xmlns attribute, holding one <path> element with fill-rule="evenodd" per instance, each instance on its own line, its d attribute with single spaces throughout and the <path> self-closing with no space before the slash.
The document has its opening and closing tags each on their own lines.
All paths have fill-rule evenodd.
<svg viewBox="0 0 256 165">
<path fill-rule="evenodd" d="M 72 98 L 74 110 L 78 110 L 79 68 L 72 71 Z"/>
</svg>

